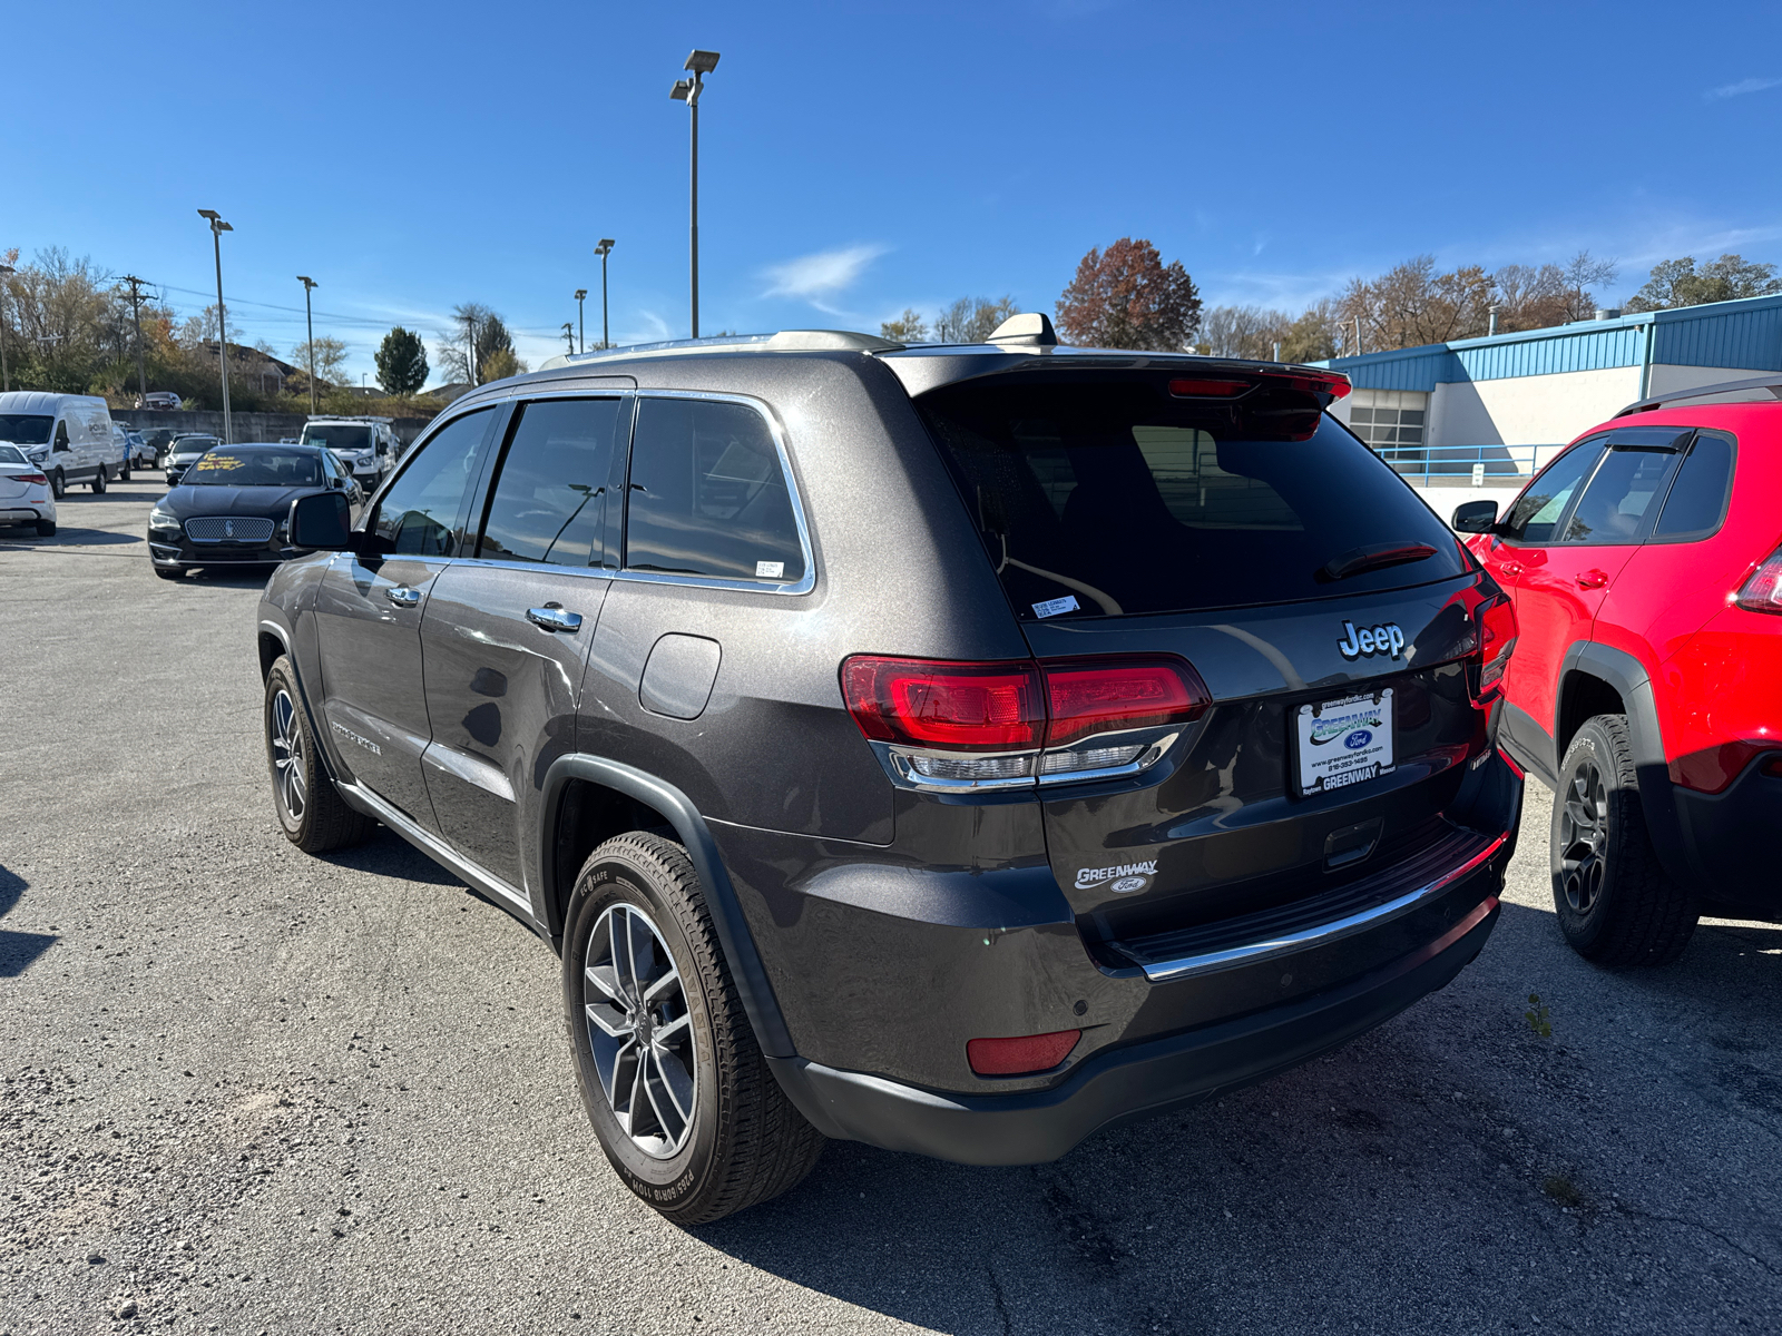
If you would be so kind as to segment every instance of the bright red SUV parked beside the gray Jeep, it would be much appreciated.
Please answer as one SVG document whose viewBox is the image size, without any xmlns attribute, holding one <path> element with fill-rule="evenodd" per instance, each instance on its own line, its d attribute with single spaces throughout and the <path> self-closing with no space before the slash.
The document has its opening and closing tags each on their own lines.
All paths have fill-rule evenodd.
<svg viewBox="0 0 1782 1336">
<path fill-rule="evenodd" d="M 1554 793 L 1554 905 L 1611 964 L 1782 917 L 1782 403 L 1623 408 L 1499 520 L 1454 527 L 1516 607 L 1502 743 Z"/>
</svg>

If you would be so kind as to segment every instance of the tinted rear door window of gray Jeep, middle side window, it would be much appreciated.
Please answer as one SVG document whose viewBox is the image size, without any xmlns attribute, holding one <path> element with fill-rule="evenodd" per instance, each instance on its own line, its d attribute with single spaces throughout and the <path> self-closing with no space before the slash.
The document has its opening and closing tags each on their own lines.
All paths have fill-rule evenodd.
<svg viewBox="0 0 1782 1336">
<path fill-rule="evenodd" d="M 599 566 L 620 399 L 526 404 L 501 461 L 478 556 Z"/>
</svg>

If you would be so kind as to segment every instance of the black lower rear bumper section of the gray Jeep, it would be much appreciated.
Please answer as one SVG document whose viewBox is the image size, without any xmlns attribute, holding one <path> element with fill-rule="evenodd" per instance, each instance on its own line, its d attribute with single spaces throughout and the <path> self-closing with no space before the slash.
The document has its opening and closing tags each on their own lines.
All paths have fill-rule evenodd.
<svg viewBox="0 0 1782 1336">
<path fill-rule="evenodd" d="M 1436 941 L 1340 987 L 1078 1065 L 1051 1090 L 943 1096 L 804 1058 L 768 1058 L 781 1087 L 827 1136 L 968 1165 L 1057 1160 L 1121 1122 L 1212 1099 L 1363 1035 L 1445 987 L 1497 923 L 1497 875 L 1468 884 L 1477 903 Z"/>
</svg>

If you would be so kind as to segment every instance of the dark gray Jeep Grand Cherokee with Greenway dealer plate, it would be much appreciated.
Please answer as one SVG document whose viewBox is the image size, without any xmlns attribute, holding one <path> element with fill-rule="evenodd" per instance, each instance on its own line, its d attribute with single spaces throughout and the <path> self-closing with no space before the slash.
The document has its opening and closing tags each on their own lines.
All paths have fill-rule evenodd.
<svg viewBox="0 0 1782 1336">
<path fill-rule="evenodd" d="M 1522 784 L 1509 604 L 1326 371 L 791 331 L 458 399 L 267 584 L 280 821 L 561 953 L 674 1220 L 827 1136 L 1028 1163 L 1440 989 Z"/>
</svg>

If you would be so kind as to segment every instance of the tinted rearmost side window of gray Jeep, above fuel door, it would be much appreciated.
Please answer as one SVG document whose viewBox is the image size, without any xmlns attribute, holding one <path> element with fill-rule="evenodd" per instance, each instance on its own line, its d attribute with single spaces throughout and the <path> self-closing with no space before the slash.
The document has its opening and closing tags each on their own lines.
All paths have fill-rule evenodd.
<svg viewBox="0 0 1782 1336">
<path fill-rule="evenodd" d="M 804 552 L 766 420 L 704 399 L 643 399 L 631 445 L 625 565 L 789 582 Z"/>
</svg>

